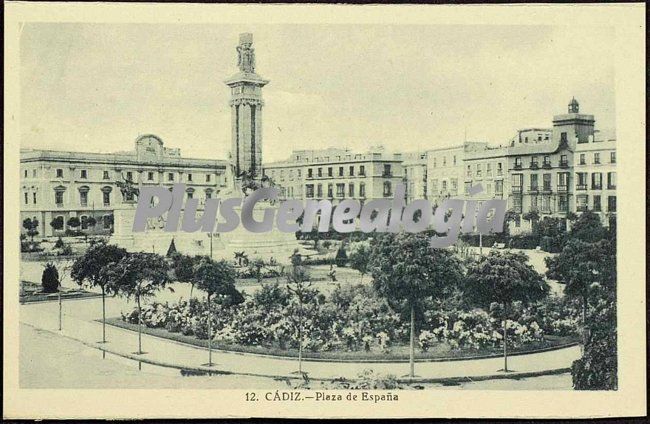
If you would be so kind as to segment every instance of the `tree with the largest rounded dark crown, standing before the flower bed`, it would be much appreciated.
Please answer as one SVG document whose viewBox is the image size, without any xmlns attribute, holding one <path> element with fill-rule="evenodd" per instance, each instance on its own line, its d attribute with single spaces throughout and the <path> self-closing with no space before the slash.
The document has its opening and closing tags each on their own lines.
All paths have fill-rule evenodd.
<svg viewBox="0 0 650 424">
<path fill-rule="evenodd" d="M 369 265 L 377 292 L 391 306 L 410 313 L 410 376 L 415 376 L 415 315 L 422 302 L 442 298 L 460 284 L 461 266 L 452 253 L 432 249 L 423 234 L 382 234 L 375 239 Z"/>
</svg>

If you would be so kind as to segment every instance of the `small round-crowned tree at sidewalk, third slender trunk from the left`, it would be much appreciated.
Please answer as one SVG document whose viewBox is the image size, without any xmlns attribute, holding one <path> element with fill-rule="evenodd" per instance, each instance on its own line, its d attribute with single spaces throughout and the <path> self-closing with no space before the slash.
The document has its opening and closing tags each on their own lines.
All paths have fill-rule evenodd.
<svg viewBox="0 0 650 424">
<path fill-rule="evenodd" d="M 239 294 L 235 288 L 235 269 L 228 262 L 221 260 L 202 261 L 195 273 L 198 288 L 208 295 L 208 366 L 212 364 L 212 303 L 213 296 L 233 297 Z"/>
</svg>

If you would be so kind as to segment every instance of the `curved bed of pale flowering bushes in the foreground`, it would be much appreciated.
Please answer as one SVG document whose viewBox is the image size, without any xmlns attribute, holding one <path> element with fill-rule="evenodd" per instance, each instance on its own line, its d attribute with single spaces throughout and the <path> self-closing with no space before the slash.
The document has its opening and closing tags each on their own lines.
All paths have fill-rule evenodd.
<svg viewBox="0 0 650 424">
<path fill-rule="evenodd" d="M 575 340 L 577 327 L 573 318 L 562 314 L 562 306 L 556 302 L 516 309 L 508 320 L 509 350 L 539 349 Z M 492 312 L 425 312 L 418 322 L 417 357 L 499 353 L 502 322 Z M 547 315 L 551 318 L 545 318 Z M 211 314 L 206 302 L 198 299 L 143 307 L 143 324 L 156 329 L 155 335 L 174 339 L 179 335 L 182 341 L 198 341 L 199 345 L 207 338 L 209 316 L 215 346 L 221 349 L 297 356 L 302 326 L 305 357 L 408 358 L 408 321 L 367 286 L 338 286 L 327 297 L 308 289 L 302 306 L 284 287 L 265 284 L 240 305 L 213 305 Z M 137 310 L 123 314 L 122 321 L 137 324 Z"/>
</svg>

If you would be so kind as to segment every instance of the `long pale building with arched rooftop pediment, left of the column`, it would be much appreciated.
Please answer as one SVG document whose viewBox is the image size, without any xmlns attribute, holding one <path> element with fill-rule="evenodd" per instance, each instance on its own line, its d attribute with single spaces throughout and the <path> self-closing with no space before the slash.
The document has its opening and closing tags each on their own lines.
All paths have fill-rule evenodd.
<svg viewBox="0 0 650 424">
<path fill-rule="evenodd" d="M 130 152 L 22 149 L 20 168 L 21 221 L 37 219 L 44 237 L 63 235 L 73 217 L 81 222 L 77 229 L 110 233 L 114 209 L 127 200 L 118 181 L 169 188 L 184 183 L 187 197 L 201 201 L 217 196 L 233 181 L 227 161 L 183 158 L 180 149 L 166 148 L 150 134 L 138 137 Z M 90 217 L 94 226 L 89 225 Z"/>
</svg>

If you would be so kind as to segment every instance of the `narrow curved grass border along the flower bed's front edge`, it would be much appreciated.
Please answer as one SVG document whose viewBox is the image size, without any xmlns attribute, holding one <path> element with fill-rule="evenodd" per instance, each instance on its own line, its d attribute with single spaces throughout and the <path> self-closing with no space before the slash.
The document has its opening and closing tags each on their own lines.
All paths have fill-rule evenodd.
<svg viewBox="0 0 650 424">
<path fill-rule="evenodd" d="M 97 320 L 97 322 L 101 322 L 101 320 Z M 121 318 L 111 318 L 106 320 L 107 325 L 112 325 L 117 328 L 121 328 L 123 330 L 128 330 L 128 331 L 137 331 L 137 325 L 136 324 L 131 324 L 122 321 Z M 152 331 L 152 330 L 159 330 L 159 331 Z M 186 341 L 186 340 L 179 340 L 178 338 L 172 338 L 172 337 L 165 337 L 164 335 L 160 334 L 160 331 L 166 331 L 162 329 L 151 329 L 149 327 L 143 326 L 142 328 L 142 333 L 146 334 L 148 336 L 152 337 L 157 337 L 159 339 L 167 340 L 173 343 L 178 343 L 182 345 L 187 345 L 187 346 L 192 346 L 196 348 L 203 348 L 207 349 L 207 341 L 206 340 L 200 340 L 193 338 L 192 342 Z M 177 334 L 177 333 L 169 333 L 169 334 Z M 185 338 L 185 337 L 183 337 Z M 508 357 L 512 356 L 521 356 L 521 355 L 530 355 L 534 353 L 543 353 L 543 352 L 551 352 L 554 350 L 560 350 L 560 349 L 565 349 L 568 347 L 573 347 L 579 345 L 580 342 L 570 342 L 570 343 L 563 343 L 563 344 L 558 344 L 555 346 L 549 346 L 545 348 L 540 348 L 540 349 L 531 349 L 531 350 L 524 350 L 524 351 L 515 351 L 512 353 L 508 353 Z M 237 350 L 237 349 L 224 349 L 220 347 L 214 347 L 212 348 L 214 352 L 227 352 L 227 353 L 236 353 L 239 355 L 250 355 L 250 356 L 259 356 L 259 357 L 266 357 L 266 358 L 276 358 L 276 359 L 295 359 L 297 360 L 298 357 L 294 355 L 274 355 L 272 353 L 258 353 L 258 352 L 250 352 L 246 350 Z M 493 353 L 493 354 L 487 354 L 487 355 L 476 355 L 476 356 L 454 356 L 454 357 L 443 357 L 443 358 L 416 358 L 415 362 L 453 362 L 453 361 L 468 361 L 468 360 L 478 360 L 478 359 L 492 359 L 492 358 L 502 358 L 503 354 L 502 353 Z M 305 357 L 303 356 L 302 360 L 304 362 L 339 362 L 339 363 L 368 363 L 368 364 L 373 364 L 373 363 L 395 363 L 395 364 L 401 364 L 401 363 L 408 363 L 408 359 L 369 359 L 369 358 L 313 358 L 313 357 Z"/>
</svg>

